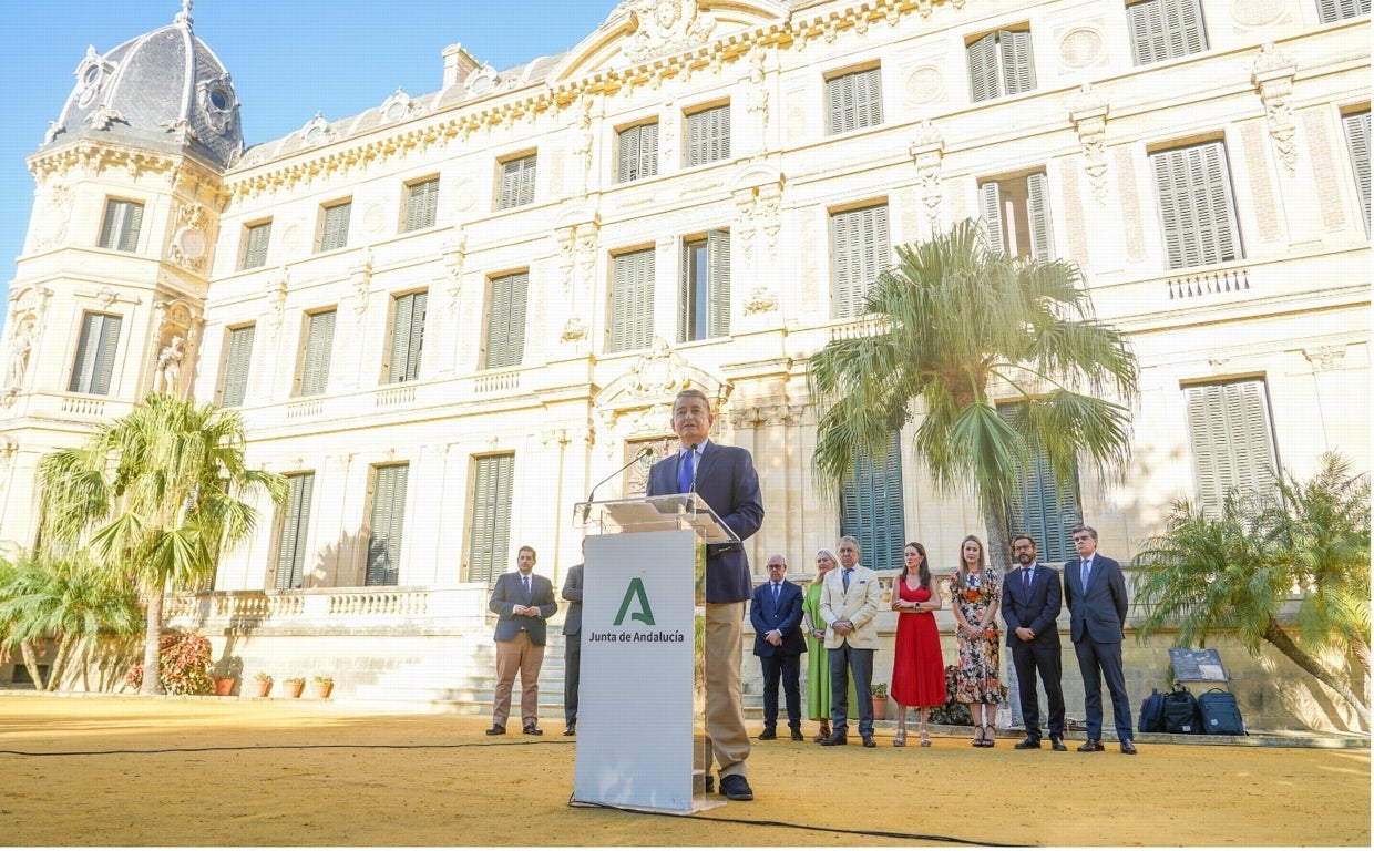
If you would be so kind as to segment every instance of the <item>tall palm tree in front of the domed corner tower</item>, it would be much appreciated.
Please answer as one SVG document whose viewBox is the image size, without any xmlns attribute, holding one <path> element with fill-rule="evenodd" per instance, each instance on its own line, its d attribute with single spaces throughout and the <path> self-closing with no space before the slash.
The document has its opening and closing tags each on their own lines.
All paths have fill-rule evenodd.
<svg viewBox="0 0 1374 851">
<path fill-rule="evenodd" d="M 265 491 L 282 505 L 287 494 L 283 477 L 245 466 L 238 411 L 168 393 L 150 393 L 82 447 L 44 456 L 38 489 L 48 551 L 88 540 L 107 569 L 136 582 L 146 672 L 158 671 L 166 588 L 203 584 L 221 547 L 249 538 L 258 514 L 245 499 Z M 159 690 L 159 676 L 143 678 L 144 694 Z"/>
</svg>

